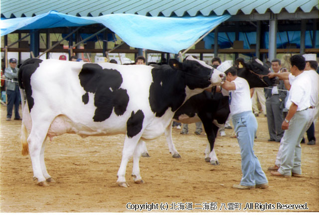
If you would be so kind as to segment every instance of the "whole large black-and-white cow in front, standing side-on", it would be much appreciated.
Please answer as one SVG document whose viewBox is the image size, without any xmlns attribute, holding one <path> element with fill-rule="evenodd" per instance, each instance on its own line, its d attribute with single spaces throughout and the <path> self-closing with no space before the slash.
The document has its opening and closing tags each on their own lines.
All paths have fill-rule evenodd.
<svg viewBox="0 0 319 216">
<path fill-rule="evenodd" d="M 186 100 L 224 79 L 223 73 L 192 57 L 157 68 L 26 60 L 18 72 L 19 87 L 25 90 L 27 100 L 21 126 L 22 154 L 30 152 L 38 185 L 48 185 L 46 137 L 122 133 L 126 136 L 117 183 L 129 186 L 125 173 L 132 156 L 133 179 L 143 183 L 139 168 L 143 140 L 160 136 Z"/>
</svg>

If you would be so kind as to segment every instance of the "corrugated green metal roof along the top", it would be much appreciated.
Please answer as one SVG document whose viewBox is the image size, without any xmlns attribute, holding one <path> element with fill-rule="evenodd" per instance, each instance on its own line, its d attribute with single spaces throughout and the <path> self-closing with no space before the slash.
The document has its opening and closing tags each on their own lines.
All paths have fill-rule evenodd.
<svg viewBox="0 0 319 216">
<path fill-rule="evenodd" d="M 196 16 L 295 13 L 319 9 L 319 0 L 1 0 L 1 17 L 35 16 L 56 10 L 76 16 L 131 13 L 146 16 Z"/>
</svg>

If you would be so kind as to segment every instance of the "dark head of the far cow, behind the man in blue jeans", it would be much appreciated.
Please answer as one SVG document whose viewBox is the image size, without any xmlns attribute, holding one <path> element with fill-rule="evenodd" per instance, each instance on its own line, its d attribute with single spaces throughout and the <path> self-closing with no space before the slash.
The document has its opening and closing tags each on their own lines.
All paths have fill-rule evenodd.
<svg viewBox="0 0 319 216">
<path fill-rule="evenodd" d="M 249 62 L 244 59 L 236 59 L 238 67 L 237 75 L 247 80 L 250 88 L 267 87 L 275 85 L 276 79 L 269 79 L 267 74 L 270 72 L 266 64 L 254 57 Z"/>
</svg>

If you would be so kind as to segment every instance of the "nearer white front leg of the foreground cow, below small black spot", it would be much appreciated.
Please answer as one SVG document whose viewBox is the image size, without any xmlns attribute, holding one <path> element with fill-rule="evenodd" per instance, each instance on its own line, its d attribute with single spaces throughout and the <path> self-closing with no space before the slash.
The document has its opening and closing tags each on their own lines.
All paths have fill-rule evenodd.
<svg viewBox="0 0 319 216">
<path fill-rule="evenodd" d="M 122 161 L 118 171 L 118 180 L 117 180 L 118 185 L 121 187 L 125 187 L 125 188 L 130 187 L 130 185 L 126 182 L 126 179 L 125 179 L 126 167 L 128 165 L 129 160 L 133 156 L 133 153 L 135 152 L 135 148 L 140 138 L 141 136 L 139 137 L 135 136 L 133 138 L 129 138 L 128 136 L 125 137 L 123 152 L 122 152 Z"/>
</svg>

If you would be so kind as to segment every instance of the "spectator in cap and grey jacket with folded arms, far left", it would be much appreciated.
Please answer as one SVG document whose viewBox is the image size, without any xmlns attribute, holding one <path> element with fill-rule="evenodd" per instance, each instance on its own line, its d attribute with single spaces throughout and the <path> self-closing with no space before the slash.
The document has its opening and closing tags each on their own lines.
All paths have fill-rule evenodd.
<svg viewBox="0 0 319 216">
<path fill-rule="evenodd" d="M 10 121 L 12 116 L 12 109 L 14 105 L 14 120 L 22 120 L 19 115 L 19 103 L 20 103 L 20 94 L 18 86 L 18 68 L 16 68 L 16 59 L 11 58 L 9 60 L 10 67 L 5 68 L 5 87 L 7 95 L 7 107 L 6 107 L 6 120 Z"/>
</svg>

